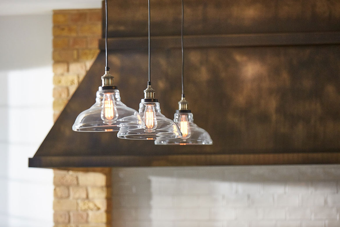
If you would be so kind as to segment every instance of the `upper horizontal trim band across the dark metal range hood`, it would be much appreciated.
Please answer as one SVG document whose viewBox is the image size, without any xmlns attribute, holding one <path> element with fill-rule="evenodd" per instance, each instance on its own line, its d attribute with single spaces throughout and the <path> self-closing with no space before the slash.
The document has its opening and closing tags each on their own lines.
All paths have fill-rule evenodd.
<svg viewBox="0 0 340 227">
<path fill-rule="evenodd" d="M 340 44 L 340 32 L 185 35 L 185 48 L 257 47 Z M 181 48 L 181 36 L 152 36 L 151 48 Z M 105 39 L 99 48 L 105 50 Z M 137 50 L 148 48 L 148 37 L 108 38 L 109 50 Z"/>
</svg>

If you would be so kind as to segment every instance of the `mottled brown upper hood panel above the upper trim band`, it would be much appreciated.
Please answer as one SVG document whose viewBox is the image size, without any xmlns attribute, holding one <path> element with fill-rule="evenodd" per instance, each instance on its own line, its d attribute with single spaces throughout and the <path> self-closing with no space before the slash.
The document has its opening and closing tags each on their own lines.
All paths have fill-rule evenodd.
<svg viewBox="0 0 340 227">
<path fill-rule="evenodd" d="M 181 34 L 180 0 L 150 4 L 151 35 Z M 147 36 L 148 1 L 108 1 L 108 13 L 108 37 Z M 186 35 L 338 31 L 340 1 L 184 0 L 184 21 Z"/>
</svg>

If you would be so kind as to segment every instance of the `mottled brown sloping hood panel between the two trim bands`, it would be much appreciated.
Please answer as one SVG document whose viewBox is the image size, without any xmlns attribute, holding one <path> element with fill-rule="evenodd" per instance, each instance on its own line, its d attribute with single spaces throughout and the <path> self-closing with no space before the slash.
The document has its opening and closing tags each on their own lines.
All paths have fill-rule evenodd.
<svg viewBox="0 0 340 227">
<path fill-rule="evenodd" d="M 75 117 L 94 102 L 102 52 L 39 150 L 52 156 L 339 150 L 339 45 L 200 48 L 188 49 L 185 57 L 186 98 L 214 145 L 160 148 L 117 139 L 115 132 L 73 132 Z M 137 109 L 147 81 L 147 53 L 110 52 L 109 65 L 122 101 Z M 172 118 L 181 95 L 180 50 L 154 51 L 151 67 L 161 110 Z"/>
</svg>

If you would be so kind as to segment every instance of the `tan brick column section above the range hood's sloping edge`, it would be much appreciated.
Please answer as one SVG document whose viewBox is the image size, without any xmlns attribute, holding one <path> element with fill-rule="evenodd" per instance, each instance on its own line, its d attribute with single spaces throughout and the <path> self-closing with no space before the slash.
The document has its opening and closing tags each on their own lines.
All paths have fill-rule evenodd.
<svg viewBox="0 0 340 227">
<path fill-rule="evenodd" d="M 100 9 L 53 11 L 54 120 L 99 53 L 101 20 Z"/>
</svg>

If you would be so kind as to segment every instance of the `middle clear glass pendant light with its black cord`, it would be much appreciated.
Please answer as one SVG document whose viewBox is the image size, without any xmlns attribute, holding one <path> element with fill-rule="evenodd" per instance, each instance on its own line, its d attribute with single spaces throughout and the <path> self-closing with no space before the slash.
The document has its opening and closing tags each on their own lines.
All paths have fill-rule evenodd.
<svg viewBox="0 0 340 227">
<path fill-rule="evenodd" d="M 148 87 L 144 90 L 144 98 L 139 103 L 139 114 L 145 123 L 142 129 L 130 127 L 129 124 L 122 124 L 117 136 L 121 139 L 131 140 L 156 140 L 176 139 L 182 136 L 177 124 L 160 113 L 159 102 L 155 98 L 155 90 L 151 87 L 150 74 L 150 0 L 149 6 L 149 81 Z"/>
</svg>

